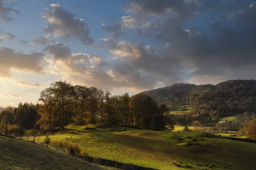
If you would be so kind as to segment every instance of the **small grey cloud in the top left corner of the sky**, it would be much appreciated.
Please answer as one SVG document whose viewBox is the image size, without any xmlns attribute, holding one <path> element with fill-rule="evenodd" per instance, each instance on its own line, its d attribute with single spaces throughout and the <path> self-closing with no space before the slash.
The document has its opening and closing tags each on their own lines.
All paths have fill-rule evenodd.
<svg viewBox="0 0 256 170">
<path fill-rule="evenodd" d="M 20 11 L 17 11 L 17 10 L 15 10 L 13 8 L 4 6 L 3 2 L 4 2 L 3 0 L 0 0 L 0 20 L 2 20 L 4 22 L 12 21 L 13 18 L 10 16 L 11 13 L 15 13 L 15 14 L 21 15 Z M 13 0 L 12 0 L 12 2 L 13 2 Z"/>
</svg>

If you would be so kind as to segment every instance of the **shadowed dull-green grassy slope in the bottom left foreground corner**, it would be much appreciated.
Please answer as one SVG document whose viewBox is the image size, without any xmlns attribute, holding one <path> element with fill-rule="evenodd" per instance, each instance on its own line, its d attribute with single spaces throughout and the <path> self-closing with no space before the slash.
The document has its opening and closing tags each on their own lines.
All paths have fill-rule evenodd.
<svg viewBox="0 0 256 170">
<path fill-rule="evenodd" d="M 102 170 L 32 142 L 0 136 L 1 170 Z"/>
</svg>

